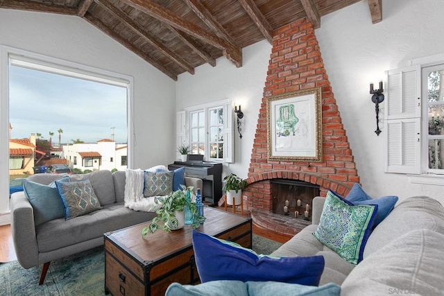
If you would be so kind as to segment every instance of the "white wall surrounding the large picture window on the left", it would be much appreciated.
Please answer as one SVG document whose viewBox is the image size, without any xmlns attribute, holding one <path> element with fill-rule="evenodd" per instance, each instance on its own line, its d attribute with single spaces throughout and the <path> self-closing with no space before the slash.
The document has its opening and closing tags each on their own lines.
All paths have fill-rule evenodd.
<svg viewBox="0 0 444 296">
<path fill-rule="evenodd" d="M 175 82 L 87 21 L 74 16 L 0 9 L 0 44 L 133 76 L 134 116 L 130 121 L 134 123 L 134 166 L 147 168 L 174 159 L 176 141 L 171 132 L 176 126 Z M 4 96 L 1 100 L 3 106 Z M 2 110 L 2 143 L 8 142 L 5 114 Z M 8 148 L 2 143 L 0 213 L 5 211 L 8 197 Z"/>
</svg>

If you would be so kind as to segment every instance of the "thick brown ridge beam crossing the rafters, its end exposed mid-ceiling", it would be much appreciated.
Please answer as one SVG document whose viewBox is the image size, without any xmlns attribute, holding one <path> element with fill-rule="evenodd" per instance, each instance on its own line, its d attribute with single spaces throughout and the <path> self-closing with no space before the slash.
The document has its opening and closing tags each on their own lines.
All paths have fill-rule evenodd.
<svg viewBox="0 0 444 296">
<path fill-rule="evenodd" d="M 207 30 L 196 26 L 190 21 L 182 19 L 178 15 L 167 10 L 164 7 L 158 5 L 157 3 L 149 0 L 121 0 L 121 2 L 126 3 L 128 6 L 136 8 L 159 21 L 169 24 L 173 28 L 177 28 L 180 31 L 195 37 L 198 40 L 210 44 L 223 51 L 228 60 L 231 60 L 236 67 L 242 67 L 242 50 L 239 46 L 233 46 L 230 42 L 223 40 L 222 38 L 213 35 Z"/>
</svg>

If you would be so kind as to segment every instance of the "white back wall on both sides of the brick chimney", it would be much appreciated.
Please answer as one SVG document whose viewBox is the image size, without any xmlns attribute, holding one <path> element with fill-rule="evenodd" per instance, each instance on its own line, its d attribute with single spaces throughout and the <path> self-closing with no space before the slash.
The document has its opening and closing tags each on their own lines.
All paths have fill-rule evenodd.
<svg viewBox="0 0 444 296">
<path fill-rule="evenodd" d="M 375 104 L 370 82 L 384 79 L 384 71 L 408 65 L 409 59 L 444 53 L 444 1 L 390 0 L 383 3 L 383 21 L 372 24 L 368 1 L 321 18 L 315 31 L 322 58 L 341 112 L 343 124 L 361 184 L 374 197 L 429 195 L 444 204 L 442 187 L 411 184 L 407 175 L 384 173 L 384 123 L 375 134 Z M 216 68 L 196 69 L 182 74 L 177 87 L 177 110 L 220 98 L 233 98 L 245 105 L 246 132 L 236 140 L 237 162 L 232 171 L 246 177 L 257 124 L 271 46 L 259 42 L 244 49 L 244 67 L 236 69 L 223 58 Z M 245 102 L 245 103 L 244 103 Z M 244 107 L 243 107 L 244 108 Z M 384 106 L 380 118 L 384 118 Z"/>
</svg>

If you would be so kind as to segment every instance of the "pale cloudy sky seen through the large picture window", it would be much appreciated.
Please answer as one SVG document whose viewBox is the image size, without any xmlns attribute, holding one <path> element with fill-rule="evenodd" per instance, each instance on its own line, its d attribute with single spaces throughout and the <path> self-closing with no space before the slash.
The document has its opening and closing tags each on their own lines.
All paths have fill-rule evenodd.
<svg viewBox="0 0 444 296">
<path fill-rule="evenodd" d="M 101 82 L 10 66 L 9 119 L 11 138 L 40 133 L 58 144 L 80 139 L 95 143 L 127 142 L 127 89 Z"/>
</svg>

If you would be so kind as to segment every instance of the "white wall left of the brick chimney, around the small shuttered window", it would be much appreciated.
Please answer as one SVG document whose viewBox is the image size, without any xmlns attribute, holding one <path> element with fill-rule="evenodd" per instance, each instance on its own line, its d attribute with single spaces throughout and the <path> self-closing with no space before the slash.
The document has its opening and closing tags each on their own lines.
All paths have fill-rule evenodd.
<svg viewBox="0 0 444 296">
<path fill-rule="evenodd" d="M 242 139 L 234 128 L 234 164 L 224 167 L 223 175 L 236 173 L 247 177 L 251 148 L 255 139 L 257 115 L 262 101 L 271 44 L 261 41 L 243 51 L 243 66 L 237 68 L 225 57 L 196 68 L 194 76 L 182 73 L 176 82 L 176 109 L 230 99 L 244 112 Z M 234 116 L 234 120 L 236 117 Z"/>
</svg>

